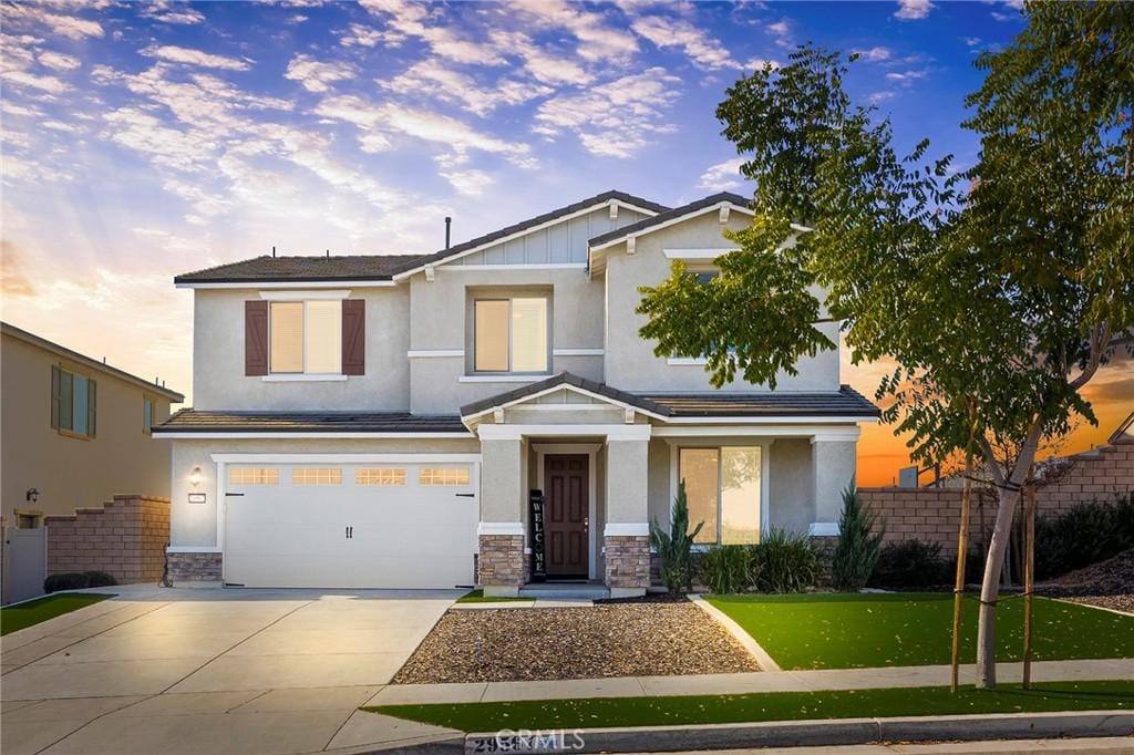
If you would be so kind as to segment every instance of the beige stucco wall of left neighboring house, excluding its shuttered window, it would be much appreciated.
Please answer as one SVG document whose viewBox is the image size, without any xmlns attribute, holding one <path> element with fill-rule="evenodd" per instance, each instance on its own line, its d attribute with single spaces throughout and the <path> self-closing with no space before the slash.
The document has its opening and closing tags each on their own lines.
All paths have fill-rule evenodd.
<svg viewBox="0 0 1134 755">
<path fill-rule="evenodd" d="M 143 432 L 144 400 L 153 421 L 169 417 L 169 399 L 83 363 L 5 333 L 0 353 L 0 466 L 5 521 L 16 509 L 70 515 L 116 494 L 169 495 L 169 441 Z M 51 365 L 98 383 L 95 436 L 51 427 Z M 40 491 L 36 503 L 27 490 Z"/>
</svg>

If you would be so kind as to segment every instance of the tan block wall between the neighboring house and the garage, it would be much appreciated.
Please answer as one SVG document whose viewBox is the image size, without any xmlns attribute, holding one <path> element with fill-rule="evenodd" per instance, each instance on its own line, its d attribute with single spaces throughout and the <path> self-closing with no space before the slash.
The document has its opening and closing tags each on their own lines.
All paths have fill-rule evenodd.
<svg viewBox="0 0 1134 755">
<path fill-rule="evenodd" d="M 115 495 L 101 508 L 49 516 L 48 574 L 105 571 L 119 584 L 158 582 L 169 543 L 169 499 Z"/>
</svg>

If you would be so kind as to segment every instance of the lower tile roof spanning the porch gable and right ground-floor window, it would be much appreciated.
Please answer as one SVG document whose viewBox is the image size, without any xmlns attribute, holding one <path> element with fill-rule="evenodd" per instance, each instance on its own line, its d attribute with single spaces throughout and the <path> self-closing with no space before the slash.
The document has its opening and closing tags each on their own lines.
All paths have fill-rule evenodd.
<svg viewBox="0 0 1134 755">
<path fill-rule="evenodd" d="M 561 372 L 547 380 L 491 396 L 460 407 L 460 416 L 534 396 L 557 385 L 574 385 L 661 417 L 877 417 L 879 409 L 849 385 L 837 393 L 751 392 L 632 393 L 606 383 Z"/>
</svg>

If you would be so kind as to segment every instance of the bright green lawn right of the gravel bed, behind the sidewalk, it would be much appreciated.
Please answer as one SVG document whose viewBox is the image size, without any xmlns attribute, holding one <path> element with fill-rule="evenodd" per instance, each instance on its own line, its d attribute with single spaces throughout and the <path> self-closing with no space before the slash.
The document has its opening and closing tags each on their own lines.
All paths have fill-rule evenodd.
<svg viewBox="0 0 1134 755">
<path fill-rule="evenodd" d="M 733 617 L 784 669 L 949 663 L 953 595 L 941 593 L 721 595 Z M 997 611 L 999 661 L 1023 656 L 1021 599 Z M 965 600 L 962 662 L 975 662 L 978 603 Z M 1134 617 L 1035 599 L 1033 660 L 1134 658 Z"/>
</svg>

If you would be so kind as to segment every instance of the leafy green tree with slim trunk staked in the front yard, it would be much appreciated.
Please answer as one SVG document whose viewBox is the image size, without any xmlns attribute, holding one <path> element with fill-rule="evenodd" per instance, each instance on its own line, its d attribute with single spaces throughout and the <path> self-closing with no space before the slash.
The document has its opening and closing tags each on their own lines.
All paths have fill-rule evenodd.
<svg viewBox="0 0 1134 755">
<path fill-rule="evenodd" d="M 756 183 L 737 252 L 697 282 L 675 263 L 643 288 L 659 356 L 708 359 L 714 384 L 776 375 L 836 343 L 890 360 L 875 398 L 921 463 L 974 438 L 998 491 L 981 589 L 978 685 L 996 684 L 996 600 L 1022 486 L 1044 439 L 1097 422 L 1083 387 L 1134 325 L 1134 6 L 1029 3 L 1027 28 L 976 62 L 958 172 L 855 104 L 855 56 L 799 48 L 738 80 L 717 109 Z M 805 230 L 804 230 L 805 229 Z M 995 447 L 1019 449 L 997 464 Z"/>
</svg>

